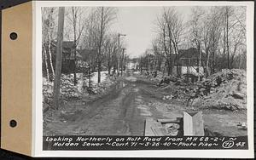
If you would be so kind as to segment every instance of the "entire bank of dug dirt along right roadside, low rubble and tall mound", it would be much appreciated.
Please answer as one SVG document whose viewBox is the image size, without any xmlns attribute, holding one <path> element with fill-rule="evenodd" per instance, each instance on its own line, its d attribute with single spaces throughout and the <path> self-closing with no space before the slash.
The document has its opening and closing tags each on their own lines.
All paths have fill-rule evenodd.
<svg viewBox="0 0 256 160">
<path fill-rule="evenodd" d="M 162 77 L 158 83 L 162 100 L 178 100 L 187 106 L 237 111 L 247 108 L 246 71 L 224 69 L 199 83 Z"/>
</svg>

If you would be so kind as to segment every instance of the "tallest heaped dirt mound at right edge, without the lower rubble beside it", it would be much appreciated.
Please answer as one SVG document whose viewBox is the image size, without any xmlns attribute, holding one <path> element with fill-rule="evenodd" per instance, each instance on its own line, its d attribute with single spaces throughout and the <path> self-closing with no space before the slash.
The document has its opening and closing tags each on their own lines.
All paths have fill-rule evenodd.
<svg viewBox="0 0 256 160">
<path fill-rule="evenodd" d="M 194 92 L 193 106 L 231 111 L 247 108 L 246 71 L 224 69 L 212 74 L 198 86 Z"/>
</svg>

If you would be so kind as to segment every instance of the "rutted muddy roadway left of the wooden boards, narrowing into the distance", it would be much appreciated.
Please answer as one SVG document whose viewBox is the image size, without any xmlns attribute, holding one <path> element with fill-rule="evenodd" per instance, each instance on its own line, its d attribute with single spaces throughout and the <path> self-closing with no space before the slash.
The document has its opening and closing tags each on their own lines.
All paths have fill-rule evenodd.
<svg viewBox="0 0 256 160">
<path fill-rule="evenodd" d="M 48 134 L 143 135 L 146 118 L 163 117 L 148 106 L 154 86 L 135 75 L 125 77 L 102 98 L 84 106 L 78 102 L 74 114 L 60 113 L 62 121 L 49 123 Z"/>
</svg>

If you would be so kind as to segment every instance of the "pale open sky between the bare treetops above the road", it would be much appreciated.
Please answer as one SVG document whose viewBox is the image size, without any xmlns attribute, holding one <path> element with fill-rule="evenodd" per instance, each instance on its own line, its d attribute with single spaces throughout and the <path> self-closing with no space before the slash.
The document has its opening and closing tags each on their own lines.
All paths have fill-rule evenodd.
<svg viewBox="0 0 256 160">
<path fill-rule="evenodd" d="M 126 44 L 126 54 L 138 57 L 150 48 L 151 41 L 156 36 L 155 20 L 160 15 L 162 7 L 119 7 L 118 16 L 111 31 L 126 34 L 122 41 Z M 185 21 L 189 14 L 189 7 L 177 7 Z"/>
</svg>

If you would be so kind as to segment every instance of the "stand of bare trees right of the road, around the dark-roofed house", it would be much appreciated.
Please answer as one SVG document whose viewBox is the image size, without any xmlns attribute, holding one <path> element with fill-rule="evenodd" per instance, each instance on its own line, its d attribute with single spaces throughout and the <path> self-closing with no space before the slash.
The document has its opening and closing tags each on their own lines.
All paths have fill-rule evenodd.
<svg viewBox="0 0 256 160">
<path fill-rule="evenodd" d="M 198 81 L 201 68 L 204 69 L 205 77 L 225 67 L 245 68 L 245 11 L 241 6 L 194 7 L 190 20 L 183 23 L 175 8 L 164 8 L 156 23 L 158 38 L 152 42 L 155 61 L 160 66 L 161 59 L 165 60 L 168 75 L 172 74 L 176 66 L 178 77 L 179 48 L 188 49 L 192 44 L 197 50 Z M 184 42 L 187 44 L 183 45 Z M 227 61 L 225 57 L 228 57 Z M 147 60 L 146 54 L 140 58 L 141 68 L 147 66 Z M 154 66 L 153 62 L 151 65 Z"/>
</svg>

